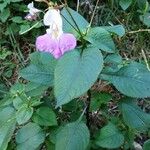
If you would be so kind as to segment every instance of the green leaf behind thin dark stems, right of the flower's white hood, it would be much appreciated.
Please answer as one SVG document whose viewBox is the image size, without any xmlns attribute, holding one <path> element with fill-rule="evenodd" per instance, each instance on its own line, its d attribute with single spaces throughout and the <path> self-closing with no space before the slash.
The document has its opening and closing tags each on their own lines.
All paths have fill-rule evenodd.
<svg viewBox="0 0 150 150">
<path fill-rule="evenodd" d="M 68 7 L 67 9 L 64 8 L 61 11 L 62 18 L 63 18 L 63 25 L 64 25 L 63 29 L 65 32 L 74 33 L 75 32 L 74 28 L 77 28 L 69 13 L 72 15 L 72 17 L 74 18 L 76 24 L 78 25 L 81 31 L 88 27 L 89 23 L 78 12 Z"/>
</svg>

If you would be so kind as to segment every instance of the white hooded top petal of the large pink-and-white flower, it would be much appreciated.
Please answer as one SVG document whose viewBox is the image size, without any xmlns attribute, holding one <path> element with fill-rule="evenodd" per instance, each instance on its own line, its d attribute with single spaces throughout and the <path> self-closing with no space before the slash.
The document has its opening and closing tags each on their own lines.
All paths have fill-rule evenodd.
<svg viewBox="0 0 150 150">
<path fill-rule="evenodd" d="M 56 24 L 58 28 L 62 28 L 62 18 L 59 10 L 49 9 L 44 15 L 44 25 L 51 26 L 53 24 Z"/>
</svg>

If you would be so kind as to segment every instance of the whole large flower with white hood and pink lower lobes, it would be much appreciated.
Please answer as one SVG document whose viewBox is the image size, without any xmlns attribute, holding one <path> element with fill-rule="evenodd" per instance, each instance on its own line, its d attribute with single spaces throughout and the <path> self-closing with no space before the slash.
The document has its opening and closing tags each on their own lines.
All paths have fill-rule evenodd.
<svg viewBox="0 0 150 150">
<path fill-rule="evenodd" d="M 37 37 L 36 48 L 42 52 L 51 53 L 60 58 L 65 52 L 76 47 L 76 38 L 73 34 L 63 33 L 60 11 L 49 9 L 44 15 L 44 25 L 49 26 L 46 34 Z"/>
</svg>

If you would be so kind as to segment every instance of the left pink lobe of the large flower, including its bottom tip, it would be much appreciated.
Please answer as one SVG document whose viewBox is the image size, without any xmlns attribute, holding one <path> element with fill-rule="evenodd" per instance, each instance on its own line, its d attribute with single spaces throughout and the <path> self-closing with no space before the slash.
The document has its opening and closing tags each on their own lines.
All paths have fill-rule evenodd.
<svg viewBox="0 0 150 150">
<path fill-rule="evenodd" d="M 62 55 L 58 47 L 58 40 L 52 39 L 49 34 L 37 37 L 36 48 L 39 51 L 51 53 L 55 58 L 59 58 Z"/>
</svg>

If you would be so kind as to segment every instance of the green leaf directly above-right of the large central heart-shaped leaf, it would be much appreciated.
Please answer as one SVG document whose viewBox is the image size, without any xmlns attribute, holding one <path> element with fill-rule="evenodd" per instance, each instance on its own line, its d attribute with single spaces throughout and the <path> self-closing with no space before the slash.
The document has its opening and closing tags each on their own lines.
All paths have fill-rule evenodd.
<svg viewBox="0 0 150 150">
<path fill-rule="evenodd" d="M 102 27 L 91 28 L 85 39 L 103 51 L 115 52 L 115 44 L 110 33 Z"/>
</svg>

